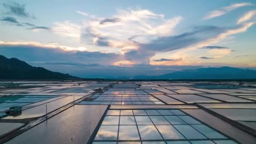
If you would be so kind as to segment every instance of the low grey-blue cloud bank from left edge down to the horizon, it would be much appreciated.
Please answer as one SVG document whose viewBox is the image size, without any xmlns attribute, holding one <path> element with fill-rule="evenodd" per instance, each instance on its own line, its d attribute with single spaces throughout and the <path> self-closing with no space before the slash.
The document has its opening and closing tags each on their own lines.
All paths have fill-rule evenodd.
<svg viewBox="0 0 256 144">
<path fill-rule="evenodd" d="M 160 66 L 129 64 L 116 53 L 89 51 L 65 51 L 62 48 L 43 45 L 28 45 L 0 42 L 0 53 L 8 58 L 18 58 L 37 67 L 69 73 L 79 77 L 119 78 L 136 75 L 163 75 L 180 69 L 195 69 L 202 66 Z"/>
</svg>

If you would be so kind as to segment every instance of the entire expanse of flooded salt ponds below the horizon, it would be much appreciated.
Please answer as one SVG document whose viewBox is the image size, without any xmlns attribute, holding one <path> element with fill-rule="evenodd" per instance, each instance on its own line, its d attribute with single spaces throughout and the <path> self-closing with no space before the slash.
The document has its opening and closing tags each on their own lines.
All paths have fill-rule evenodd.
<svg viewBox="0 0 256 144">
<path fill-rule="evenodd" d="M 0 82 L 0 143 L 255 144 L 253 85 Z"/>
</svg>

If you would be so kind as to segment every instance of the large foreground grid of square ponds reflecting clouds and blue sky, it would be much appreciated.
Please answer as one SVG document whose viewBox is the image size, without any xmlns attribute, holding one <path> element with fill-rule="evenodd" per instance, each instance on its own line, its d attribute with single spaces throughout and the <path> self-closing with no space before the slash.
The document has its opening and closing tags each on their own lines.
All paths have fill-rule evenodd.
<svg viewBox="0 0 256 144">
<path fill-rule="evenodd" d="M 92 144 L 237 144 L 179 109 L 108 110 Z"/>
</svg>

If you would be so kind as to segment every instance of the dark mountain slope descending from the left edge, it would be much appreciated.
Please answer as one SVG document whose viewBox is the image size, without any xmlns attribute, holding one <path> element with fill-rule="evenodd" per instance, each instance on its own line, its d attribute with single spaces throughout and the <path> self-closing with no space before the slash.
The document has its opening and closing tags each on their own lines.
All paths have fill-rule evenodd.
<svg viewBox="0 0 256 144">
<path fill-rule="evenodd" d="M 16 58 L 0 55 L 0 79 L 77 79 L 69 74 L 52 72 L 43 67 L 33 67 Z"/>
</svg>

